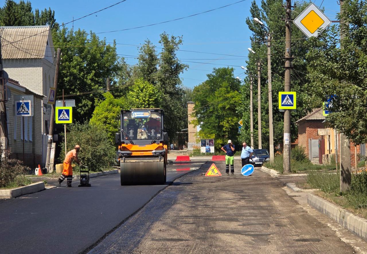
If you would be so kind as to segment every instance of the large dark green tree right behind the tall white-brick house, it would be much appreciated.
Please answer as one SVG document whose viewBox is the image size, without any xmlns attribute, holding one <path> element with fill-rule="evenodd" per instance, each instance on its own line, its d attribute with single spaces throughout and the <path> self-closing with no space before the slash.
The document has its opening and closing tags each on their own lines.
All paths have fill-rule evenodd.
<svg viewBox="0 0 367 254">
<path fill-rule="evenodd" d="M 116 44 L 109 45 L 85 30 L 62 27 L 54 31 L 55 48 L 62 49 L 58 91 L 64 89 L 67 98 L 78 104 L 77 119 L 90 119 L 95 98 L 102 99 L 106 91 L 106 79 L 114 80 L 121 70 Z"/>
</svg>

